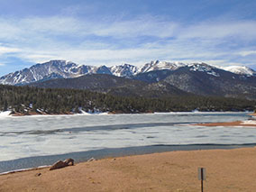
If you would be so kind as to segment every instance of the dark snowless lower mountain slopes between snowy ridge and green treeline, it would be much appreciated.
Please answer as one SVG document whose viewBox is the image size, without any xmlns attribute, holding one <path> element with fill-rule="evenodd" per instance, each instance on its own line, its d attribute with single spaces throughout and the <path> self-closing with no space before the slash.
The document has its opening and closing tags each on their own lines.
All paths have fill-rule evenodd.
<svg viewBox="0 0 256 192">
<path fill-rule="evenodd" d="M 234 74 L 207 64 L 176 70 L 152 70 L 130 78 L 90 74 L 30 84 L 33 87 L 88 89 L 118 96 L 225 96 L 256 98 L 256 77 Z"/>
</svg>

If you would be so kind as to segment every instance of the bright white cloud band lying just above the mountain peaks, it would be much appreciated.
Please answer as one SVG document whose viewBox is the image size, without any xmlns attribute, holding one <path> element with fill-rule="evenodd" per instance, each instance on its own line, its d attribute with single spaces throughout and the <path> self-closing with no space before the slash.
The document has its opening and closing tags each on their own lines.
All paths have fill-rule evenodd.
<svg viewBox="0 0 256 192">
<path fill-rule="evenodd" d="M 123 62 L 135 65 L 142 65 L 151 59 L 175 60 L 182 62 L 199 62 L 204 61 L 210 64 L 226 66 L 230 58 L 237 53 L 223 52 L 215 50 L 215 43 L 209 41 L 200 41 L 200 46 L 194 41 L 166 41 L 165 44 L 157 42 L 147 43 L 137 48 L 115 48 L 111 44 L 98 44 L 95 47 L 91 42 L 81 43 L 81 46 L 69 46 L 59 42 L 49 45 L 31 48 L 23 48 L 22 51 L 14 53 L 16 57 L 30 62 L 40 63 L 50 59 L 68 59 L 79 64 L 87 65 L 119 65 Z M 57 45 L 57 47 L 54 46 Z M 60 49 L 58 49 L 58 47 Z M 227 56 L 228 55 L 228 56 Z"/>
</svg>

